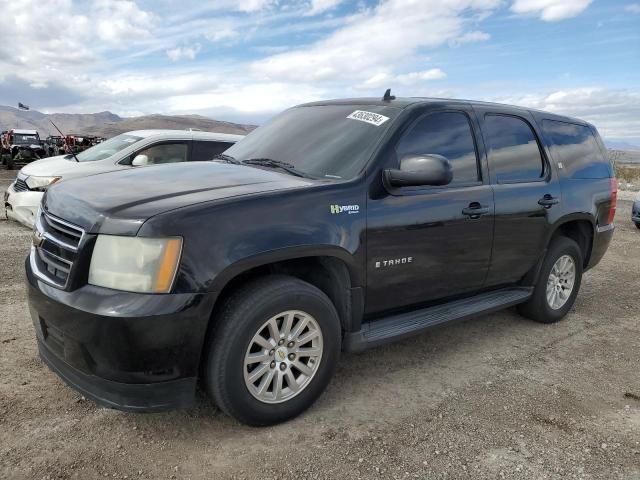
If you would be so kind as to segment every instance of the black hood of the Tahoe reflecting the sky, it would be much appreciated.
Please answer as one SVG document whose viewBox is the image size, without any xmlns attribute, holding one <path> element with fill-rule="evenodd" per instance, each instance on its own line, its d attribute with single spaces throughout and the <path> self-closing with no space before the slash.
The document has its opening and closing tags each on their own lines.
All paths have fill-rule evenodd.
<svg viewBox="0 0 640 480">
<path fill-rule="evenodd" d="M 60 182 L 47 190 L 44 204 L 87 232 L 133 235 L 145 220 L 169 210 L 312 184 L 245 165 L 174 163 Z"/>
</svg>

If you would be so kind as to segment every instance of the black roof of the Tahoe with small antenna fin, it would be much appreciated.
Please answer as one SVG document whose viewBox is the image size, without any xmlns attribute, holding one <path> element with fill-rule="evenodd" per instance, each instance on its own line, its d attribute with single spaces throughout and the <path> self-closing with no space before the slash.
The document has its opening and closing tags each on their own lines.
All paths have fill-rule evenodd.
<svg viewBox="0 0 640 480">
<path fill-rule="evenodd" d="M 425 105 L 425 104 L 448 104 L 448 105 L 477 105 L 477 106 L 485 106 L 485 107 L 495 107 L 502 110 L 512 110 L 512 111 L 525 111 L 525 112 L 537 112 L 538 114 L 543 114 L 549 118 L 554 118 L 557 120 L 568 120 L 568 121 L 578 121 L 580 123 L 586 124 L 584 120 L 577 119 L 575 117 L 568 117 L 565 115 L 558 115 L 555 113 L 547 112 L 544 110 L 537 110 L 534 108 L 521 107 L 517 105 L 509 105 L 505 103 L 496 103 L 496 102 L 483 102 L 480 100 L 465 100 L 459 98 L 430 98 L 430 97 L 397 97 L 393 100 L 382 100 L 382 97 L 364 97 L 364 98 L 343 98 L 343 99 L 335 99 L 335 100 L 325 100 L 318 102 L 311 102 L 299 105 L 300 107 L 312 107 L 319 105 L 376 105 L 376 106 L 386 106 L 386 107 L 395 107 L 398 109 L 404 109 L 414 105 Z"/>
</svg>

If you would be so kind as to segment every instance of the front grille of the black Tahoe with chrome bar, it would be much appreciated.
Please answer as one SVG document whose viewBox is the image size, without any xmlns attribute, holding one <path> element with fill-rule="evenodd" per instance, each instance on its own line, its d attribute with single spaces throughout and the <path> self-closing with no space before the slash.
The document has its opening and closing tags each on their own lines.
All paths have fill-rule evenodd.
<svg viewBox="0 0 640 480">
<path fill-rule="evenodd" d="M 83 236 L 80 227 L 41 210 L 31 254 L 36 275 L 56 287 L 66 288 Z"/>
</svg>

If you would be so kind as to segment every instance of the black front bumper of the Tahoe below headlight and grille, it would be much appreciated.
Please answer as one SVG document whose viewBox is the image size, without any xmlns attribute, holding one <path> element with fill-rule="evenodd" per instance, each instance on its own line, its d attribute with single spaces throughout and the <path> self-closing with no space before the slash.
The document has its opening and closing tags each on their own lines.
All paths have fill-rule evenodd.
<svg viewBox="0 0 640 480">
<path fill-rule="evenodd" d="M 120 410 L 193 404 L 214 294 L 67 292 L 25 267 L 40 356 L 71 387 Z"/>
</svg>

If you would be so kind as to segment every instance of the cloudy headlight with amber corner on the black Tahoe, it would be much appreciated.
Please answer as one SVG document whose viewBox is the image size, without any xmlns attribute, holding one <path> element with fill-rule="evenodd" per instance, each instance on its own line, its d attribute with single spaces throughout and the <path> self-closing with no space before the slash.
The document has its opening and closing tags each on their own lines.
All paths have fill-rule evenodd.
<svg viewBox="0 0 640 480">
<path fill-rule="evenodd" d="M 182 239 L 98 235 L 89 283 L 141 293 L 168 293 L 178 271 Z"/>
</svg>

